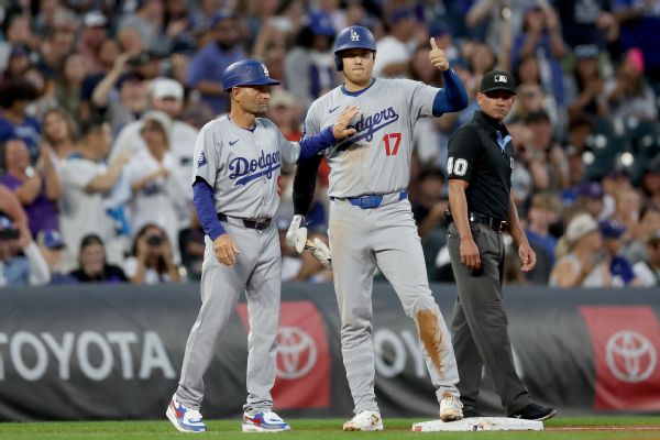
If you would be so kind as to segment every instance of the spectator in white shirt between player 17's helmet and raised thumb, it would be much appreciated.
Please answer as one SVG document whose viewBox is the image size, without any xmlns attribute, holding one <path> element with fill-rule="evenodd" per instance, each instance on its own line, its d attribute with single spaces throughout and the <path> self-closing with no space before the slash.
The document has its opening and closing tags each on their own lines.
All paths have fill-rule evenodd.
<svg viewBox="0 0 660 440">
<path fill-rule="evenodd" d="M 415 12 L 408 8 L 395 9 L 388 20 L 389 32 L 376 42 L 378 56 L 374 62 L 374 76 L 402 77 L 408 70 L 413 50 L 417 45 Z"/>
</svg>

